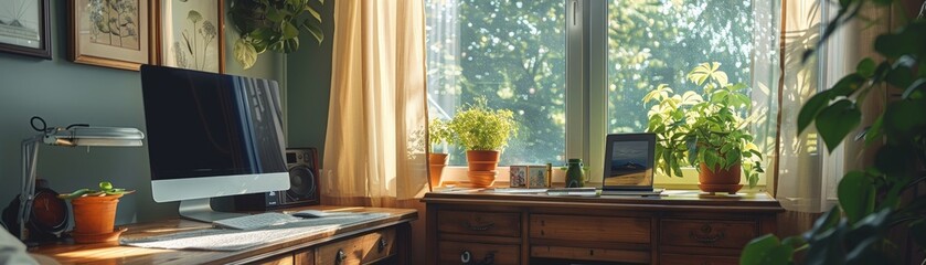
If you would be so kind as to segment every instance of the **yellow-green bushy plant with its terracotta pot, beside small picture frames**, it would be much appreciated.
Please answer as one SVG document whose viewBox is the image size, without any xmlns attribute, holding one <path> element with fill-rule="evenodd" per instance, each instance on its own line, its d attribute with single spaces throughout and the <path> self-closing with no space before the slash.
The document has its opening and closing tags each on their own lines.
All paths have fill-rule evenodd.
<svg viewBox="0 0 926 265">
<path fill-rule="evenodd" d="M 508 139 L 518 134 L 514 114 L 490 109 L 485 98 L 476 99 L 457 112 L 449 123 L 454 142 L 466 149 L 469 180 L 475 187 L 489 187 L 496 180 L 496 167 Z"/>
</svg>

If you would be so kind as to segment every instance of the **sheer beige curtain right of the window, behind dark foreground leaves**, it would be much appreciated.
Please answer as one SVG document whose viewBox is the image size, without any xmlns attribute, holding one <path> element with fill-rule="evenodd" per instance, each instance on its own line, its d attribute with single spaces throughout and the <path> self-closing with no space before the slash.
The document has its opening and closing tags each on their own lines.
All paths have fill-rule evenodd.
<svg viewBox="0 0 926 265">
<path fill-rule="evenodd" d="M 809 230 L 821 212 L 829 211 L 837 203 L 835 189 L 842 176 L 871 162 L 862 142 L 851 140 L 855 134 L 850 134 L 849 140 L 830 153 L 812 125 L 802 134 L 797 131 L 797 116 L 803 103 L 854 72 L 861 59 L 872 56 L 872 40 L 887 29 L 885 24 L 877 23 L 849 24 L 833 34 L 817 56 L 802 62 L 803 52 L 813 47 L 820 39 L 821 22 L 829 21 L 827 15 L 838 10 L 837 6 L 823 4 L 828 3 L 819 0 L 783 1 L 780 121 L 773 194 L 788 211 L 779 215 L 779 235 L 795 235 Z M 861 15 L 887 18 L 884 13 L 887 11 L 864 8 Z M 883 100 L 880 97 L 870 95 L 863 107 L 880 108 Z M 863 117 L 860 128 L 872 121 L 873 117 Z"/>
</svg>

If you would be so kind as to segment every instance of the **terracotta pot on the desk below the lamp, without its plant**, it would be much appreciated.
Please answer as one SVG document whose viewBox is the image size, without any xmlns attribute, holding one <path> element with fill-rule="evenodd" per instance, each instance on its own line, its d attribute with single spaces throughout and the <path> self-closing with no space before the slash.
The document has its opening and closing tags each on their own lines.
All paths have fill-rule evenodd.
<svg viewBox="0 0 926 265">
<path fill-rule="evenodd" d="M 99 240 L 100 235 L 113 234 L 116 226 L 116 206 L 121 197 L 118 194 L 73 199 L 71 204 L 74 206 L 74 240 L 78 243 L 104 242 Z"/>
</svg>

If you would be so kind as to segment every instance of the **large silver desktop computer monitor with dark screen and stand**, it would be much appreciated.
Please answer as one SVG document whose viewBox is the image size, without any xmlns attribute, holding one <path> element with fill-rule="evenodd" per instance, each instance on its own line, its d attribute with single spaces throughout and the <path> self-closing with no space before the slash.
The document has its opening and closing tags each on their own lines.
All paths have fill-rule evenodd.
<svg viewBox="0 0 926 265">
<path fill-rule="evenodd" d="M 212 222 L 242 214 L 210 198 L 289 189 L 275 81 L 142 65 L 141 91 L 156 202 Z"/>
</svg>

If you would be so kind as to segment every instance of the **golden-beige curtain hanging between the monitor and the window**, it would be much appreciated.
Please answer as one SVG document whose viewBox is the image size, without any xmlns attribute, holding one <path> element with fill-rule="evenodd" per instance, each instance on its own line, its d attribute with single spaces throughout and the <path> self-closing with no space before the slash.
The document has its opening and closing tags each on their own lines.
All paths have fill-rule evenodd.
<svg viewBox="0 0 926 265">
<path fill-rule="evenodd" d="M 427 188 L 424 3 L 334 3 L 326 204 L 418 208 Z"/>
</svg>

